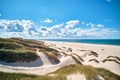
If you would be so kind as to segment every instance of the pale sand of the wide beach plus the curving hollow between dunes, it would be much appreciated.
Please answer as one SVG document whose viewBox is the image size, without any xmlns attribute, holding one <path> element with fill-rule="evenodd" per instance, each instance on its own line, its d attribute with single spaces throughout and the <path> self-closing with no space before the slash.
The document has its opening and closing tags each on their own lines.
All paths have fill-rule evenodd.
<svg viewBox="0 0 120 80">
<path fill-rule="evenodd" d="M 103 63 L 102 60 L 106 59 L 108 56 L 118 56 L 120 57 L 120 46 L 111 46 L 111 45 L 96 45 L 96 44 L 82 44 L 82 43 L 69 43 L 69 42 L 54 42 L 54 41 L 46 41 L 46 44 L 49 47 L 57 49 L 59 51 L 66 52 L 67 54 L 75 53 L 79 55 L 81 58 L 84 59 L 82 64 L 84 65 L 92 65 L 94 67 L 105 68 L 113 73 L 120 75 L 120 65 L 115 62 L 105 62 Z M 72 52 L 68 51 L 68 48 L 72 48 Z M 104 50 L 102 50 L 104 49 Z M 80 50 L 87 50 L 87 51 L 80 51 Z M 97 52 L 99 55 L 95 57 L 93 55 L 89 56 L 89 51 L 92 50 Z M 64 54 L 60 54 L 58 56 L 60 63 L 53 65 L 49 59 L 41 52 L 36 51 L 36 53 L 41 57 L 39 61 L 30 62 L 30 66 L 28 64 L 23 64 L 24 66 L 15 66 L 12 64 L 19 64 L 18 63 L 5 63 L 2 64 L 0 62 L 0 71 L 3 72 L 16 72 L 16 73 L 28 73 L 28 74 L 37 74 L 37 75 L 44 75 L 50 72 L 54 72 L 57 69 L 69 65 L 75 64 L 75 61 L 71 56 L 64 57 Z M 95 61 L 89 62 L 90 59 L 96 59 L 99 63 Z M 34 64 L 34 65 L 33 65 Z M 38 65 L 39 64 L 39 65 Z"/>
</svg>

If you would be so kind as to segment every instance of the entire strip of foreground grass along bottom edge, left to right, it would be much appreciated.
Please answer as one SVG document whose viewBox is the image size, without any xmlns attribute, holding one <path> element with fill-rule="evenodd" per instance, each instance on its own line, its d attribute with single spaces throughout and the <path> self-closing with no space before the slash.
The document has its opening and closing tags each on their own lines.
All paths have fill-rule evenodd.
<svg viewBox="0 0 120 80">
<path fill-rule="evenodd" d="M 92 66 L 74 64 L 64 66 L 57 71 L 44 76 L 0 72 L 0 80 L 66 80 L 67 75 L 74 74 L 76 72 L 85 75 L 86 80 L 99 80 L 97 78 L 98 75 L 102 76 L 105 80 L 120 79 L 120 76 L 103 68 L 94 68 Z M 50 74 L 53 74 L 53 76 L 50 76 Z"/>
</svg>

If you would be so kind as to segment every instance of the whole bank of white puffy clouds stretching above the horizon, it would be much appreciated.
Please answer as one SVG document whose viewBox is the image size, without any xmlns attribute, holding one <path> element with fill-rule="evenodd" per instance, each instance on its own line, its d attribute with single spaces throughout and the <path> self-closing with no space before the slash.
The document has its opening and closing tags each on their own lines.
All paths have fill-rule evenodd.
<svg viewBox="0 0 120 80">
<path fill-rule="evenodd" d="M 84 26 L 81 27 L 79 24 Z M 89 26 L 89 27 L 88 27 Z M 105 28 L 103 24 L 93 24 L 70 20 L 51 27 L 35 26 L 31 20 L 0 20 L 0 37 L 23 38 L 109 38 L 120 36 L 120 33 L 111 28 Z"/>
</svg>

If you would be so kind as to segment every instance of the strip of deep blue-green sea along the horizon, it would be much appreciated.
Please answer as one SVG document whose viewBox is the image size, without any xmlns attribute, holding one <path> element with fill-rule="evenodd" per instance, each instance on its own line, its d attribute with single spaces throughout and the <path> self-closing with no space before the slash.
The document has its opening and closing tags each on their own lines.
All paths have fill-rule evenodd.
<svg viewBox="0 0 120 80">
<path fill-rule="evenodd" d="M 120 39 L 45 39 L 47 41 L 75 42 L 90 44 L 107 44 L 120 46 Z"/>
</svg>

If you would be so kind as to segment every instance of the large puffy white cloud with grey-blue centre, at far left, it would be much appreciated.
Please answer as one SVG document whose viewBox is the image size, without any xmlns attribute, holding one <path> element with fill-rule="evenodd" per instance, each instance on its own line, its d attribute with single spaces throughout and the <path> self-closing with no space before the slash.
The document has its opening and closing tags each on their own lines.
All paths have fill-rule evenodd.
<svg viewBox="0 0 120 80">
<path fill-rule="evenodd" d="M 0 20 L 0 28 L 8 32 L 22 32 L 34 28 L 31 20 Z"/>
</svg>

